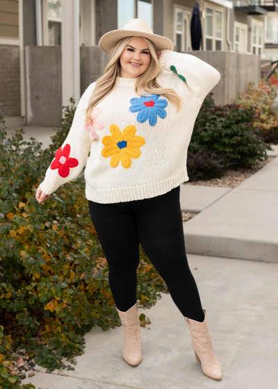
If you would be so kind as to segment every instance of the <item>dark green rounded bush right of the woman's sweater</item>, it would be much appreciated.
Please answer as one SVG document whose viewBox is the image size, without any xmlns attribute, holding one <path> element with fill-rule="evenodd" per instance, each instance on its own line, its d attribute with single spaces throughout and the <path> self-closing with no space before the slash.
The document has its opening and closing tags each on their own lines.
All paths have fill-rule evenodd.
<svg viewBox="0 0 278 389">
<path fill-rule="evenodd" d="M 254 125 L 254 107 L 215 106 L 212 94 L 199 110 L 188 147 L 190 181 L 221 176 L 231 166 L 258 165 L 271 149 Z"/>
</svg>

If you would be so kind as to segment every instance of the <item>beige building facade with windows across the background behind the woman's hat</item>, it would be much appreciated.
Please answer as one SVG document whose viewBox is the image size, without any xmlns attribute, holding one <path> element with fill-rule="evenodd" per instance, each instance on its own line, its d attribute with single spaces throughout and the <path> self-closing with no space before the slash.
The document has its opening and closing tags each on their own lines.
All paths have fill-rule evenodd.
<svg viewBox="0 0 278 389">
<path fill-rule="evenodd" d="M 97 47 L 99 39 L 129 19 L 147 20 L 154 33 L 174 42 L 175 51 L 192 51 L 194 6 L 195 0 L 0 0 L 0 103 L 8 124 L 39 122 L 33 120 L 43 101 L 38 85 L 45 98 L 55 94 L 56 109 L 58 101 L 60 106 L 72 96 L 78 101 L 108 62 L 109 56 Z M 199 51 L 278 56 L 276 8 L 250 1 L 199 0 L 199 9 Z M 57 125 L 60 111 L 55 116 L 49 106 L 44 125 Z"/>
</svg>

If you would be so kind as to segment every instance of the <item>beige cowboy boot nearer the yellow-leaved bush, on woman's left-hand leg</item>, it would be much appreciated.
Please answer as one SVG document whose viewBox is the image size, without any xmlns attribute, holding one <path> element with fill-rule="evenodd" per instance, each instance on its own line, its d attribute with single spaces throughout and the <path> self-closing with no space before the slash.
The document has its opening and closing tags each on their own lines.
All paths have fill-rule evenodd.
<svg viewBox="0 0 278 389">
<path fill-rule="evenodd" d="M 142 362 L 142 354 L 140 348 L 140 320 L 138 315 L 138 307 L 140 300 L 136 301 L 136 304 L 131 306 L 128 311 L 122 312 L 117 309 L 117 313 L 120 316 L 122 326 L 124 327 L 124 348 L 122 350 L 122 356 L 124 362 L 130 366 L 140 365 Z"/>
</svg>

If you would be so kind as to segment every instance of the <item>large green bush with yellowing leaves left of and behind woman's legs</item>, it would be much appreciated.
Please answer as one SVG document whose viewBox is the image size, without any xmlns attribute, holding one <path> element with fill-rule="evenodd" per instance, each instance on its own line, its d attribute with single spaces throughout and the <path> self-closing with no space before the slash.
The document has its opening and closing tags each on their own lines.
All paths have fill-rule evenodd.
<svg viewBox="0 0 278 389">
<path fill-rule="evenodd" d="M 35 199 L 42 174 L 70 130 L 74 100 L 63 108 L 60 129 L 45 150 L 34 138 L 24 142 L 23 130 L 7 139 L 0 117 L 0 324 L 15 320 L 24 333 L 10 339 L 10 349 L 0 349 L 0 374 L 17 347 L 49 370 L 65 368 L 62 358 L 74 362 L 83 353 L 83 335 L 95 324 L 104 331 L 121 325 L 83 174 L 58 188 L 44 206 Z M 137 298 L 149 307 L 167 287 L 140 250 Z M 38 334 L 47 345 L 35 340 Z"/>
</svg>

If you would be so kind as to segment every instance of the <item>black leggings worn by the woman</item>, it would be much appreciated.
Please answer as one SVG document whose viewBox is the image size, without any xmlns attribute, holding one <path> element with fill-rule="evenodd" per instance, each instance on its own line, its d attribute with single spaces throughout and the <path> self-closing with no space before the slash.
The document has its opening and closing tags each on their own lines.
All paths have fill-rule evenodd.
<svg viewBox="0 0 278 389">
<path fill-rule="evenodd" d="M 182 315 L 204 320 L 186 257 L 179 192 L 178 186 L 165 195 L 113 204 L 88 200 L 92 224 L 109 267 L 109 285 L 120 311 L 136 304 L 141 243 Z"/>
</svg>

